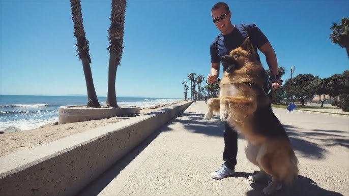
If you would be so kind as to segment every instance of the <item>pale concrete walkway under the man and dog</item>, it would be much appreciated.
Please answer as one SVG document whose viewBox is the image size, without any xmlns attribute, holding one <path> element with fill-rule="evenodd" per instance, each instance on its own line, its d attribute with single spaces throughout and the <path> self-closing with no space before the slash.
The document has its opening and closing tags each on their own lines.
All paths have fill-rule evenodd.
<svg viewBox="0 0 349 196">
<path fill-rule="evenodd" d="M 203 119 L 205 102 L 193 103 L 159 129 L 81 195 L 263 195 L 267 181 L 250 182 L 258 171 L 238 141 L 238 165 L 232 177 L 214 180 L 223 163 L 224 124 L 215 115 Z M 274 195 L 349 195 L 349 117 L 274 109 L 300 162 L 294 185 Z"/>
</svg>

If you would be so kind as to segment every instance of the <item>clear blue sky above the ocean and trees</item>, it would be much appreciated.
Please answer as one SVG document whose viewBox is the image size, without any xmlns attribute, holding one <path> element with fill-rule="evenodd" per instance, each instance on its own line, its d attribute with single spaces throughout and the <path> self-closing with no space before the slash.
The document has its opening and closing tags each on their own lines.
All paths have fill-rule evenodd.
<svg viewBox="0 0 349 196">
<path fill-rule="evenodd" d="M 184 97 L 189 73 L 207 78 L 211 18 L 218 1 L 127 1 L 118 96 Z M 345 49 L 329 39 L 332 23 L 349 17 L 349 1 L 226 1 L 234 24 L 255 23 L 270 40 L 282 79 L 348 70 Z M 107 93 L 111 1 L 82 1 L 98 96 Z M 0 1 L 0 94 L 86 94 L 76 56 L 70 1 Z M 265 56 L 261 60 L 266 69 Z M 221 69 L 222 70 L 222 69 Z"/>
</svg>

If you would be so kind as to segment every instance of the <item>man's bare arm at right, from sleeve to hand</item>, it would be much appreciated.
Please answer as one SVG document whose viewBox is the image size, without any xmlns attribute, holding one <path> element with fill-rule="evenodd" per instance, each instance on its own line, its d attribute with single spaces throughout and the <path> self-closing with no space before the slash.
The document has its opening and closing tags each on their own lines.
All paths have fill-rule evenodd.
<svg viewBox="0 0 349 196">
<path fill-rule="evenodd" d="M 270 44 L 270 42 L 265 43 L 263 46 L 259 47 L 258 49 L 266 56 L 266 60 L 270 70 L 270 76 L 277 75 L 278 74 L 277 58 L 276 58 L 275 51 L 272 45 Z M 277 89 L 281 86 L 280 78 L 278 79 L 273 78 L 271 79 L 271 82 L 274 89 Z"/>
</svg>

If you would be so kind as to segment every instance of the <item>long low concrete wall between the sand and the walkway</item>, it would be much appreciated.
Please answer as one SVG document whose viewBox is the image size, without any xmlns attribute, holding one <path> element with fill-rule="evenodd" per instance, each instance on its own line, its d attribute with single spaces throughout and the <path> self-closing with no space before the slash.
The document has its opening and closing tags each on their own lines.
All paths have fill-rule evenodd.
<svg viewBox="0 0 349 196">
<path fill-rule="evenodd" d="M 73 195 L 192 102 L 0 157 L 0 195 Z"/>
</svg>

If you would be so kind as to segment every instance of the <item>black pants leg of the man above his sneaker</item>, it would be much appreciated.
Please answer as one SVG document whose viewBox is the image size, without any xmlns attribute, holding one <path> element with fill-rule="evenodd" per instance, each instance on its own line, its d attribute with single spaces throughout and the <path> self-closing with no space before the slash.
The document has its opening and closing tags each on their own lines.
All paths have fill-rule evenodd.
<svg viewBox="0 0 349 196">
<path fill-rule="evenodd" d="M 238 132 L 225 122 L 224 132 L 224 164 L 234 170 L 237 164 L 236 156 L 238 154 Z"/>
</svg>

